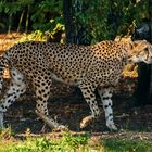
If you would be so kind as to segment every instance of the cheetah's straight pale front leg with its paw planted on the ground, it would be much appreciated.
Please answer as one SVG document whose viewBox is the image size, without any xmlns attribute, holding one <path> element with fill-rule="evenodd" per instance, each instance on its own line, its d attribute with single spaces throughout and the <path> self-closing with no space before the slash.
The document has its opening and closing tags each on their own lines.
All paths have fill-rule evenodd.
<svg viewBox="0 0 152 152">
<path fill-rule="evenodd" d="M 103 110 L 105 112 L 105 119 L 106 119 L 106 126 L 111 130 L 117 130 L 117 127 L 115 126 L 113 122 L 113 109 L 112 109 L 112 89 L 111 88 L 98 88 L 98 92 L 101 97 L 102 103 L 103 103 Z"/>
</svg>

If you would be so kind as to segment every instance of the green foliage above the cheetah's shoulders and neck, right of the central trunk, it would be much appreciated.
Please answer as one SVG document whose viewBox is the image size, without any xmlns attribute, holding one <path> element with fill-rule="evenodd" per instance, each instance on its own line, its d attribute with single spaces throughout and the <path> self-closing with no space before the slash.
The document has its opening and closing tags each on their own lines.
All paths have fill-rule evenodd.
<svg viewBox="0 0 152 152">
<path fill-rule="evenodd" d="M 83 11 L 77 11 L 76 20 L 86 25 L 92 43 L 103 39 L 114 39 L 116 35 L 134 34 L 135 27 L 149 18 L 149 2 L 130 0 L 83 0 Z M 84 11 L 85 10 L 85 11 Z M 86 36 L 87 38 L 87 36 Z"/>
</svg>

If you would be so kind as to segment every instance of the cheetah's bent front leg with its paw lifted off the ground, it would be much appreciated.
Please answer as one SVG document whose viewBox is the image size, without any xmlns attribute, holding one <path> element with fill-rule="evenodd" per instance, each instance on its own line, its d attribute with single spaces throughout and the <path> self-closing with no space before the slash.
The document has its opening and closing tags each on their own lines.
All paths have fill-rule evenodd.
<svg viewBox="0 0 152 152">
<path fill-rule="evenodd" d="M 88 124 L 90 124 L 91 122 L 93 122 L 100 116 L 100 109 L 96 100 L 96 94 L 94 94 L 96 88 L 91 86 L 90 83 L 88 84 L 84 83 L 79 87 L 86 102 L 89 104 L 91 110 L 91 115 L 85 117 L 80 123 L 80 128 L 85 128 L 86 126 L 88 126 Z"/>
</svg>

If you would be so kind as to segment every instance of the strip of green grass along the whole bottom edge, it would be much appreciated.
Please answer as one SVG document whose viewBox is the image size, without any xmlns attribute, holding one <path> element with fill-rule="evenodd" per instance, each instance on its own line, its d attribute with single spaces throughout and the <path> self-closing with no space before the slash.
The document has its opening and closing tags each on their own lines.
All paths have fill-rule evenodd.
<svg viewBox="0 0 152 152">
<path fill-rule="evenodd" d="M 151 140 L 103 139 L 101 136 L 72 135 L 37 137 L 28 132 L 24 140 L 10 129 L 0 132 L 0 152 L 152 152 Z"/>
</svg>

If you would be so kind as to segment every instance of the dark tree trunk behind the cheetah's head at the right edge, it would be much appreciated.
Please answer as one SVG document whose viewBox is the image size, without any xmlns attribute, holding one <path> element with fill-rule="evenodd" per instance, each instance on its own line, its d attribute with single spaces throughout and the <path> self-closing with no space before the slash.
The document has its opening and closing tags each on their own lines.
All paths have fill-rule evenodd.
<svg viewBox="0 0 152 152">
<path fill-rule="evenodd" d="M 149 0 L 150 21 L 148 22 L 149 31 L 138 35 L 139 39 L 147 39 L 152 42 L 152 1 Z M 137 86 L 137 103 L 139 105 L 152 104 L 152 65 L 139 64 Z"/>
</svg>

